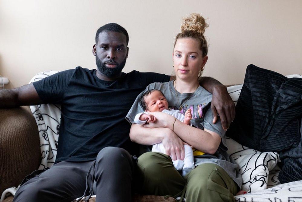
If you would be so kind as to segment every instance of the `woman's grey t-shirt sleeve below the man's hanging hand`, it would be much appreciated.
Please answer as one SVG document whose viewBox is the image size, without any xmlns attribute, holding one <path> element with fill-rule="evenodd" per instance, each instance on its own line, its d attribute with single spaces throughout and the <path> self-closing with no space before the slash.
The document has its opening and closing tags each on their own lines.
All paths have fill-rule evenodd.
<svg viewBox="0 0 302 202">
<path fill-rule="evenodd" d="M 203 125 L 203 127 L 205 129 L 219 134 L 221 137 L 221 140 L 222 140 L 222 144 L 224 146 L 223 148 L 224 148 L 224 150 L 227 150 L 226 135 L 225 135 L 226 131 L 224 131 L 222 128 L 220 118 L 218 117 L 216 124 L 213 124 L 212 121 L 213 121 L 212 110 L 211 110 L 211 108 L 208 108 L 204 115 L 204 120 L 201 124 Z"/>
</svg>

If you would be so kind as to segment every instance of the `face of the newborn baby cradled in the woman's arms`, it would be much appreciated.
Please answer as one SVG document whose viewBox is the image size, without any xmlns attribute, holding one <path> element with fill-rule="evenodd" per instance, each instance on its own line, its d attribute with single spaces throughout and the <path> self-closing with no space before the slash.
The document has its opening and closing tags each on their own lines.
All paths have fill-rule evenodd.
<svg viewBox="0 0 302 202">
<path fill-rule="evenodd" d="M 160 91 L 153 91 L 147 97 L 145 97 L 145 103 L 148 111 L 163 111 L 168 109 L 168 101 Z"/>
</svg>

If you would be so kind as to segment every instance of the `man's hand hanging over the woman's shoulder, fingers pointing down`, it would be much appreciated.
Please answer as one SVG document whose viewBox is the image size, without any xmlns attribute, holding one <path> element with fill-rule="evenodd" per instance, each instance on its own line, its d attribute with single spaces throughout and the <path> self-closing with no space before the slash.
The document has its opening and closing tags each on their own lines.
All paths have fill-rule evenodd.
<svg viewBox="0 0 302 202">
<path fill-rule="evenodd" d="M 226 131 L 235 118 L 235 104 L 224 85 L 215 86 L 212 94 L 211 109 L 213 114 L 213 124 L 215 124 L 218 119 L 218 113 L 223 130 Z"/>
</svg>

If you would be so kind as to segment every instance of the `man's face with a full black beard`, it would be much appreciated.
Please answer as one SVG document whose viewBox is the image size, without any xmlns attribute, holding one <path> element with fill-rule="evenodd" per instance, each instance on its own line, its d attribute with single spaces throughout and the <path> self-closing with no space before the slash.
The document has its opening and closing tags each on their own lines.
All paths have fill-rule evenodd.
<svg viewBox="0 0 302 202">
<path fill-rule="evenodd" d="M 109 78 L 119 76 L 128 57 L 126 36 L 119 32 L 102 31 L 98 43 L 93 46 L 93 55 L 101 75 Z"/>
</svg>

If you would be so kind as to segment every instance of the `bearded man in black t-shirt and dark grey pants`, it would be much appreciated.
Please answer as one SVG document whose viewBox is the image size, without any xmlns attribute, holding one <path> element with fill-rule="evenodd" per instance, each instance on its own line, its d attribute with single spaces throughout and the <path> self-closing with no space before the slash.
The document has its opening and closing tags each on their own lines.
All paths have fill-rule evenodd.
<svg viewBox="0 0 302 202">
<path fill-rule="evenodd" d="M 138 145 L 129 139 L 125 116 L 148 84 L 173 78 L 138 71 L 123 73 L 128 41 L 123 27 L 106 24 L 96 32 L 93 45 L 96 70 L 77 67 L 0 91 L 2 108 L 45 103 L 62 106 L 55 164 L 27 177 L 14 201 L 71 201 L 85 190 L 86 195 L 96 194 L 96 201 L 131 201 L 137 162 L 132 155 L 138 154 Z M 234 104 L 226 88 L 210 78 L 202 84 L 213 92 L 213 109 L 217 108 L 227 128 L 234 118 Z"/>
</svg>

